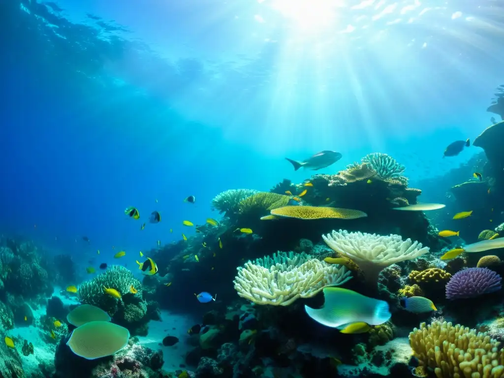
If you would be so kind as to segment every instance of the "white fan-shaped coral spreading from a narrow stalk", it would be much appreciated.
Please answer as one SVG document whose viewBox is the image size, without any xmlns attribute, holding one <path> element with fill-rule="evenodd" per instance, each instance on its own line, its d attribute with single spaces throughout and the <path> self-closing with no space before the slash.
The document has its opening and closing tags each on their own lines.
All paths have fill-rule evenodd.
<svg viewBox="0 0 504 378">
<path fill-rule="evenodd" d="M 403 240 L 400 235 L 376 235 L 334 231 L 322 235 L 324 241 L 340 255 L 353 260 L 368 282 L 376 283 L 380 272 L 400 261 L 416 259 L 429 251 L 418 241 Z"/>
</svg>

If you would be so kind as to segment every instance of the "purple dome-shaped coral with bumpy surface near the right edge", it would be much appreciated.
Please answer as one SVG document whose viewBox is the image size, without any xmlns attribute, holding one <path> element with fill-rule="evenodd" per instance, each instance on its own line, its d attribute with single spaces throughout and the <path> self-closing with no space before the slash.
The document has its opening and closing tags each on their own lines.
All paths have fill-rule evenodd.
<svg viewBox="0 0 504 378">
<path fill-rule="evenodd" d="M 500 290 L 501 277 L 488 268 L 468 268 L 454 274 L 446 285 L 447 299 L 474 298 Z"/>
</svg>

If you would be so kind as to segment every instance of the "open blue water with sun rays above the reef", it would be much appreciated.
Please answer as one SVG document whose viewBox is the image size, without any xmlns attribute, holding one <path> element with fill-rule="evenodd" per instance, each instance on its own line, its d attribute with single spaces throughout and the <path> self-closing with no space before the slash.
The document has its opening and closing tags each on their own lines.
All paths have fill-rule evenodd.
<svg viewBox="0 0 504 378">
<path fill-rule="evenodd" d="M 502 14 L 492 0 L 3 0 L 0 233 L 71 255 L 81 278 L 100 263 L 141 277 L 140 250 L 197 235 L 183 220 L 222 219 L 219 193 L 372 152 L 444 202 L 452 184 L 438 183 L 483 151 L 445 148 L 500 120 L 486 109 Z M 285 160 L 323 150 L 343 157 L 315 172 Z"/>
</svg>

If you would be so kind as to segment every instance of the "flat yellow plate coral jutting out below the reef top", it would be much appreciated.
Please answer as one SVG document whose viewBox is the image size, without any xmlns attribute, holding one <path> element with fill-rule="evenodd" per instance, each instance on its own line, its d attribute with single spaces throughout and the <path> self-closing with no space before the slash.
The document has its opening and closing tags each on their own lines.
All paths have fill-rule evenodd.
<svg viewBox="0 0 504 378">
<path fill-rule="evenodd" d="M 367 217 L 367 214 L 360 210 L 322 206 L 284 206 L 271 210 L 271 215 L 274 215 L 276 217 L 297 219 L 357 219 Z"/>
</svg>

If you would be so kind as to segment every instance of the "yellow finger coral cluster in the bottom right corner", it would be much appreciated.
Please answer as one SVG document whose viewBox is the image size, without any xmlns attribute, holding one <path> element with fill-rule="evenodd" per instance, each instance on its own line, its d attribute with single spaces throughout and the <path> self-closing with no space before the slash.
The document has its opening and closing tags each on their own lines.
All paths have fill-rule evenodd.
<svg viewBox="0 0 504 378">
<path fill-rule="evenodd" d="M 413 355 L 420 366 L 437 378 L 501 378 L 504 356 L 499 342 L 486 333 L 452 323 L 420 324 L 409 334 Z"/>
</svg>

